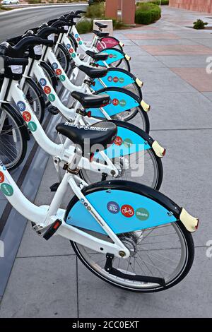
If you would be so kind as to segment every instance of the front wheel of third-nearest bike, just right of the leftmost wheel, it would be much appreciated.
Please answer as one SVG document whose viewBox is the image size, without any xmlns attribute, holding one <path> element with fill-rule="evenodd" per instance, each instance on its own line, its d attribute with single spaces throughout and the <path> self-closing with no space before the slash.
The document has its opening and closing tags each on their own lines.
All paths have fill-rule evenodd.
<svg viewBox="0 0 212 332">
<path fill-rule="evenodd" d="M 43 93 L 41 92 L 40 88 L 37 86 L 35 81 L 33 81 L 32 78 L 26 78 L 25 84 L 23 85 L 23 92 L 25 93 L 25 89 L 27 89 L 27 93 L 25 94 L 25 97 L 27 98 L 28 102 L 30 103 L 30 106 L 33 109 L 33 112 L 35 113 L 38 121 L 40 121 L 40 124 L 42 124 L 42 121 L 45 116 L 45 100 L 43 97 Z M 30 90 L 32 93 L 30 93 Z M 36 102 L 36 105 L 34 105 L 34 102 Z"/>
</svg>

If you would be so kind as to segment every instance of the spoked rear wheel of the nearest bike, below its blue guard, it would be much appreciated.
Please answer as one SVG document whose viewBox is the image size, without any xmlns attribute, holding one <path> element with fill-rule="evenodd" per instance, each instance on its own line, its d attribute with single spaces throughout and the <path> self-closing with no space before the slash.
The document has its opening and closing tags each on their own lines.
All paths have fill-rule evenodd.
<svg viewBox="0 0 212 332">
<path fill-rule="evenodd" d="M 101 237 L 102 239 L 102 237 Z M 106 239 L 106 236 L 105 236 Z M 180 221 L 150 229 L 128 232 L 119 239 L 131 249 L 129 259 L 115 258 L 113 268 L 131 275 L 132 280 L 105 271 L 106 255 L 71 242 L 78 259 L 100 279 L 124 290 L 159 292 L 177 285 L 189 273 L 194 261 L 194 242 Z M 107 240 L 107 239 L 106 239 Z M 165 286 L 144 283 L 133 275 L 164 278 Z"/>
</svg>

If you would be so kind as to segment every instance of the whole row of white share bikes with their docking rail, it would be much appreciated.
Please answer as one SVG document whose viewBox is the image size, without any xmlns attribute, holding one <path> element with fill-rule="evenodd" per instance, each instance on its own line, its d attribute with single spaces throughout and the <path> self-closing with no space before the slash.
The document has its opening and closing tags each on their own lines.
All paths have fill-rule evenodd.
<svg viewBox="0 0 212 332">
<path fill-rule="evenodd" d="M 98 30 L 93 30 L 90 45 L 83 42 L 75 26 L 80 13 L 51 20 L 0 45 L 5 69 L 2 105 L 6 109 L 14 102 L 31 135 L 22 167 L 9 174 L 5 156 L 0 165 L 4 194 L 0 196 L 0 226 L 6 257 L 0 261 L 0 278 L 4 280 L 1 296 L 26 218 L 32 222 L 35 237 L 45 241 L 60 235 L 71 240 L 73 251 L 86 268 L 124 290 L 165 290 L 179 283 L 193 263 L 192 232 L 199 220 L 159 191 L 165 148 L 148 134 L 150 105 L 143 100 L 143 84 L 130 72 L 130 57 L 124 53 L 122 42 L 102 32 L 107 28 L 104 23 L 95 23 Z M 49 37 L 52 34 L 58 35 L 56 42 Z M 14 73 L 13 64 L 25 64 L 24 74 Z M 24 93 L 26 86 L 33 86 L 29 78 L 37 80 L 41 97 L 48 102 L 49 112 L 45 112 L 42 125 L 34 100 L 30 102 Z M 57 93 L 54 78 L 59 82 Z M 37 97 L 39 94 L 40 90 Z M 56 133 L 59 143 L 54 142 Z M 37 148 L 32 136 L 43 150 Z M 49 155 L 59 182 L 52 186 L 55 195 L 49 206 L 37 206 L 30 201 L 34 201 Z M 136 174 L 132 172 L 135 165 L 143 165 Z M 65 171 L 62 174 L 60 167 Z M 57 178 L 57 172 L 52 179 Z M 64 210 L 62 198 L 70 188 L 75 196 Z M 166 233 L 167 228 L 172 232 Z M 158 242 L 153 242 L 145 244 L 143 250 L 151 255 L 153 270 L 145 269 L 146 261 L 139 254 L 150 234 L 161 239 L 159 249 Z M 155 258 L 158 250 L 163 260 Z M 168 266 L 168 271 L 159 265 Z"/>
</svg>

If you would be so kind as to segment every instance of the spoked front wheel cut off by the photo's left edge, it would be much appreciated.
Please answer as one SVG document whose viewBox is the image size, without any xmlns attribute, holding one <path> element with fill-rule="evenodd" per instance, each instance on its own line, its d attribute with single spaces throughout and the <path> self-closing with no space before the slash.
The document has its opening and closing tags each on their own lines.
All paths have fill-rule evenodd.
<svg viewBox="0 0 212 332">
<path fill-rule="evenodd" d="M 8 170 L 13 170 L 25 158 L 27 140 L 24 131 L 27 129 L 20 122 L 16 110 L 10 105 L 0 108 L 0 160 Z"/>
</svg>

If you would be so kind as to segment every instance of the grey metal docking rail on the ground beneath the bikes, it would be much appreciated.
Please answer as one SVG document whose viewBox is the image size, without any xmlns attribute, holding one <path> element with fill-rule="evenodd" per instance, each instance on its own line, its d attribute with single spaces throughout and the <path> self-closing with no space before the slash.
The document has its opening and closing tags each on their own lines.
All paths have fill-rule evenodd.
<svg viewBox="0 0 212 332">
<path fill-rule="evenodd" d="M 80 76 L 80 72 L 77 69 L 71 73 L 73 82 L 77 81 L 78 75 Z M 57 93 L 64 105 L 70 107 L 73 98 L 70 96 L 70 92 L 66 91 L 61 83 L 57 86 Z M 46 108 L 43 129 L 45 129 L 47 136 L 51 138 L 52 141 L 54 141 L 56 137 L 55 126 L 59 123 L 60 119 L 61 116 L 59 114 L 52 117 L 52 114 L 48 112 L 48 107 Z M 30 201 L 34 201 L 35 199 L 48 159 L 49 155 L 37 145 L 33 136 L 30 135 L 28 150 L 23 163 L 18 169 L 11 170 L 13 179 Z M 52 179 L 54 179 L 54 176 Z M 1 252 L 4 255 L 4 259 L 0 259 L 0 300 L 4 294 L 13 262 L 16 259 L 18 247 L 23 237 L 27 221 L 28 220 L 26 220 L 23 215 L 20 215 L 20 213 L 8 203 L 4 194 L 0 191 L 0 240 L 3 243 L 1 244 L 1 249 L 3 248 Z"/>
</svg>

